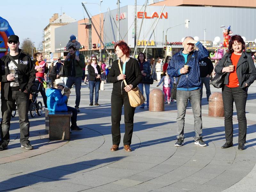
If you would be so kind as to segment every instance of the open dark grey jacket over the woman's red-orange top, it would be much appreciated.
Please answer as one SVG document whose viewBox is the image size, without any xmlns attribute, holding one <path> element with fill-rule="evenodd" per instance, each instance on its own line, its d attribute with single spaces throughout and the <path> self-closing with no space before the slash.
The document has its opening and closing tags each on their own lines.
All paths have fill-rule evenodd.
<svg viewBox="0 0 256 192">
<path fill-rule="evenodd" d="M 224 57 L 220 60 L 219 64 L 215 67 L 216 73 L 222 73 L 222 69 L 224 68 L 225 62 L 227 60 L 227 63 L 225 67 L 228 67 L 232 64 L 230 57 L 232 53 L 226 53 Z M 245 52 L 242 52 L 241 57 L 238 60 L 237 66 L 236 66 L 236 75 L 238 78 L 239 86 L 244 88 L 245 83 L 247 83 L 248 87 L 254 82 L 256 79 L 256 69 L 254 66 L 254 62 L 252 60 L 251 55 L 248 55 Z M 224 84 L 228 84 L 228 77 L 229 73 L 225 76 Z"/>
</svg>

